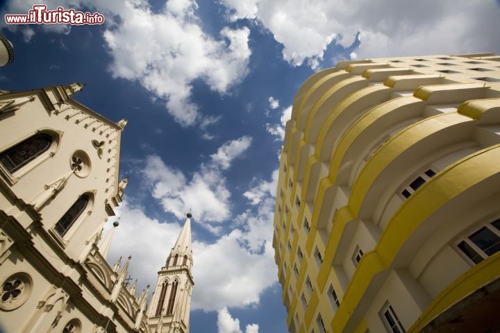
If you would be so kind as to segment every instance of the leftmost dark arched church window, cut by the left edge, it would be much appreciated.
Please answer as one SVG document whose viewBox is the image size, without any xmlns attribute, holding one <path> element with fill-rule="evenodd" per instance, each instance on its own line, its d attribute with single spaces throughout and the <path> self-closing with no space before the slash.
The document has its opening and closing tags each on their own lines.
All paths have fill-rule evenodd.
<svg viewBox="0 0 500 333">
<path fill-rule="evenodd" d="M 10 173 L 13 173 L 49 150 L 52 142 L 53 137 L 47 133 L 35 134 L 0 153 L 0 162 Z"/>
</svg>

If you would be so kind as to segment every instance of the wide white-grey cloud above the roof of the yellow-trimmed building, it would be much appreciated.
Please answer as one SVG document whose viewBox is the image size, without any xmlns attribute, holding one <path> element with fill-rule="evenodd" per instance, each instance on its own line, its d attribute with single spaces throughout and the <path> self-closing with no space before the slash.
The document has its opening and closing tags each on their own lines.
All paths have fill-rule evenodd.
<svg viewBox="0 0 500 333">
<path fill-rule="evenodd" d="M 283 44 L 283 59 L 318 68 L 332 42 L 358 58 L 500 52 L 495 1 L 222 0 L 230 19 L 256 19 Z M 428 10 L 433 8 L 433 10 Z M 346 54 L 346 57 L 349 53 Z M 351 58 L 353 55 L 351 55 Z"/>
</svg>

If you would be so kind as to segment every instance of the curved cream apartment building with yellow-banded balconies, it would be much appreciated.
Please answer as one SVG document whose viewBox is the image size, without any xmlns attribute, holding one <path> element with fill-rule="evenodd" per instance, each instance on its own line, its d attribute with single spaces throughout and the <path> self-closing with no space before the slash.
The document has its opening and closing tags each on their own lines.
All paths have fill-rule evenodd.
<svg viewBox="0 0 500 333">
<path fill-rule="evenodd" d="M 500 330 L 500 56 L 345 61 L 306 80 L 273 244 L 290 332 Z"/>
</svg>

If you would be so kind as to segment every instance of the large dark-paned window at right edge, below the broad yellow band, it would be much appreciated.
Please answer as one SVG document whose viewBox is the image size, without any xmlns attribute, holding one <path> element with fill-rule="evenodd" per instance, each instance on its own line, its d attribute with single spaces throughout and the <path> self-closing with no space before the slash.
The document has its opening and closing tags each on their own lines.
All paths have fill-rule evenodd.
<svg viewBox="0 0 500 333">
<path fill-rule="evenodd" d="M 500 219 L 484 225 L 469 237 L 460 241 L 457 247 L 474 264 L 500 251 Z"/>
</svg>

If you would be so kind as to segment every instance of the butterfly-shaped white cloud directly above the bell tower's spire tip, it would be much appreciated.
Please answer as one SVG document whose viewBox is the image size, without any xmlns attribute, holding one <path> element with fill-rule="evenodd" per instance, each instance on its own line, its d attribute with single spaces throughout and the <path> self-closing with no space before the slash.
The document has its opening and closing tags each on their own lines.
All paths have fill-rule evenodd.
<svg viewBox="0 0 500 333">
<path fill-rule="evenodd" d="M 231 215 L 231 192 L 226 187 L 222 171 L 231 167 L 231 162 L 250 145 L 251 137 L 246 135 L 224 143 L 215 154 L 210 155 L 210 162 L 201 164 L 199 171 L 190 177 L 169 167 L 157 155 L 148 156 L 143 172 L 151 184 L 153 198 L 160 201 L 165 212 L 171 212 L 179 219 L 193 203 L 196 203 L 200 221 L 222 222 L 228 219 Z M 218 228 L 208 230 L 221 231 Z"/>
</svg>

